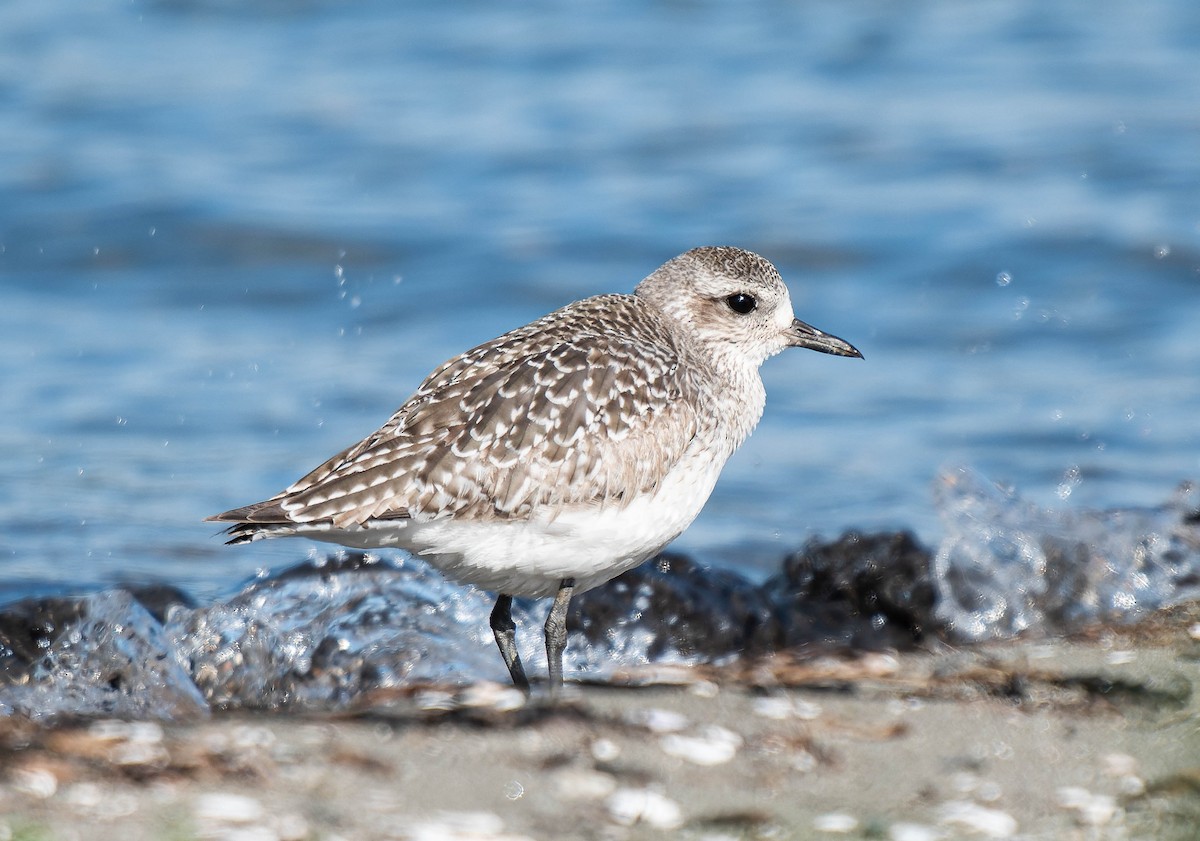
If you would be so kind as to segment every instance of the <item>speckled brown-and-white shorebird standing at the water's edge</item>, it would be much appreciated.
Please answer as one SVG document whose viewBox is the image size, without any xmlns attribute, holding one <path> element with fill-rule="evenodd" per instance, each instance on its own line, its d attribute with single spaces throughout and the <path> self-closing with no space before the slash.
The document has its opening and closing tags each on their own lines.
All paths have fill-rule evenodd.
<svg viewBox="0 0 1200 841">
<path fill-rule="evenodd" d="M 437 367 L 378 431 L 259 503 L 208 517 L 229 543 L 304 536 L 397 547 L 497 594 L 490 625 L 530 692 L 514 597 L 553 597 L 547 691 L 571 597 L 655 555 L 762 416 L 787 348 L 862 358 L 796 318 L 766 258 L 694 248 L 631 294 L 557 310 Z"/>
</svg>

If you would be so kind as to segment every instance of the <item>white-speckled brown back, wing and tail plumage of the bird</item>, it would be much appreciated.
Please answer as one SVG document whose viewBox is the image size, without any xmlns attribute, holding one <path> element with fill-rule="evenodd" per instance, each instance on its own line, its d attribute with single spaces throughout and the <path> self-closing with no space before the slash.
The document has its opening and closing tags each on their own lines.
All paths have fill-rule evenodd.
<svg viewBox="0 0 1200 841">
<path fill-rule="evenodd" d="M 571 304 L 437 368 L 370 438 L 270 500 L 254 524 L 529 517 L 653 491 L 720 407 L 708 364 L 634 295 Z"/>
</svg>

